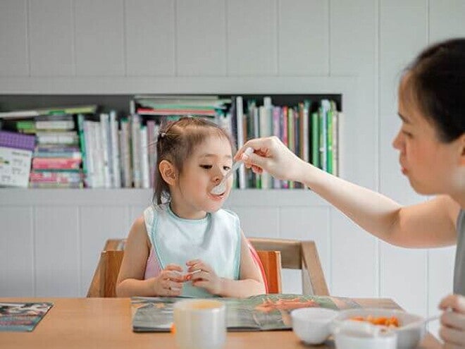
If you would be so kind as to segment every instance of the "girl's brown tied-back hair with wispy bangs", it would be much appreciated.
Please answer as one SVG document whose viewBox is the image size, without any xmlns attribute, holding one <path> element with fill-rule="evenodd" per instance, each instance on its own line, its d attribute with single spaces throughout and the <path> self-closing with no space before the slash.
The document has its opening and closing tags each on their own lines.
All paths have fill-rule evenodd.
<svg viewBox="0 0 465 349">
<path fill-rule="evenodd" d="M 233 137 L 228 131 L 204 118 L 180 118 L 178 121 L 171 121 L 161 126 L 156 142 L 153 202 L 161 204 L 170 199 L 168 183 L 163 180 L 159 170 L 160 162 L 170 161 L 181 173 L 185 161 L 192 155 L 195 147 L 212 135 L 228 140 L 233 153 L 235 152 Z"/>
</svg>

